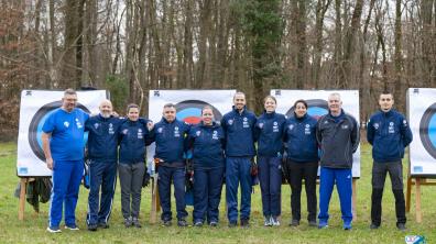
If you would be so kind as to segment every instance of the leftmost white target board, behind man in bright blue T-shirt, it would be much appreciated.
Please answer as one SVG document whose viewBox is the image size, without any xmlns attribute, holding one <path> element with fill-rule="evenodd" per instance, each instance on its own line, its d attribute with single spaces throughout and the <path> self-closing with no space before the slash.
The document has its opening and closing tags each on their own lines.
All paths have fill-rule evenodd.
<svg viewBox="0 0 436 244">
<path fill-rule="evenodd" d="M 42 126 L 48 114 L 61 107 L 63 96 L 64 91 L 21 91 L 17 152 L 18 176 L 52 175 L 52 170 L 45 164 L 45 156 L 42 149 Z M 77 91 L 77 107 L 88 113 L 98 113 L 98 106 L 106 98 L 106 90 Z"/>
</svg>

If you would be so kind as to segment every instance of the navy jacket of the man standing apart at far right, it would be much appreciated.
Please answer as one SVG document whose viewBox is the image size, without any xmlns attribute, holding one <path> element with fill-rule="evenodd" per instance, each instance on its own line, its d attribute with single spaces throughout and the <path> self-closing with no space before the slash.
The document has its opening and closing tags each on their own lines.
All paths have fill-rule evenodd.
<svg viewBox="0 0 436 244">
<path fill-rule="evenodd" d="M 412 142 L 411 127 L 403 114 L 395 110 L 379 111 L 371 115 L 367 138 L 372 145 L 372 158 L 377 163 L 397 162 L 404 148 Z"/>
</svg>

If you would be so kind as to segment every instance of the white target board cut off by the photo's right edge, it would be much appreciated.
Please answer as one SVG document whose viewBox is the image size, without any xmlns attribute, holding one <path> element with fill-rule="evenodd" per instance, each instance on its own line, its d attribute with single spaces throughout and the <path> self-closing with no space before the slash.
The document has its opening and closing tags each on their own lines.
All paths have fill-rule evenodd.
<svg viewBox="0 0 436 244">
<path fill-rule="evenodd" d="M 407 115 L 411 176 L 436 177 L 436 89 L 408 88 Z"/>
</svg>

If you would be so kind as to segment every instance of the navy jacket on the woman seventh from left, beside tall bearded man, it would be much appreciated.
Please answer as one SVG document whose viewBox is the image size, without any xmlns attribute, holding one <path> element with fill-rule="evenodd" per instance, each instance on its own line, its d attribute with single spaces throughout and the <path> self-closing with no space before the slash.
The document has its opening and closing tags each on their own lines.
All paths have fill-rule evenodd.
<svg viewBox="0 0 436 244">
<path fill-rule="evenodd" d="M 266 113 L 258 118 L 254 134 L 258 141 L 258 155 L 277 157 L 283 154 L 283 126 L 286 118 L 281 113 Z"/>
</svg>

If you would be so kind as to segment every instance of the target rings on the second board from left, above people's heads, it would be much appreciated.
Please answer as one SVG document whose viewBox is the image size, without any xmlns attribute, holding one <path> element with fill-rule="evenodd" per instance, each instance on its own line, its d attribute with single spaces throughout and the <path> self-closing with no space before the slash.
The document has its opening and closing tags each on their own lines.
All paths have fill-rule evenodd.
<svg viewBox="0 0 436 244">
<path fill-rule="evenodd" d="M 186 100 L 178 102 L 175 107 L 177 110 L 177 119 L 186 123 L 197 124 L 201 121 L 201 109 L 205 106 L 212 108 L 216 121 L 220 121 L 222 114 L 214 106 L 200 100 Z"/>
</svg>

